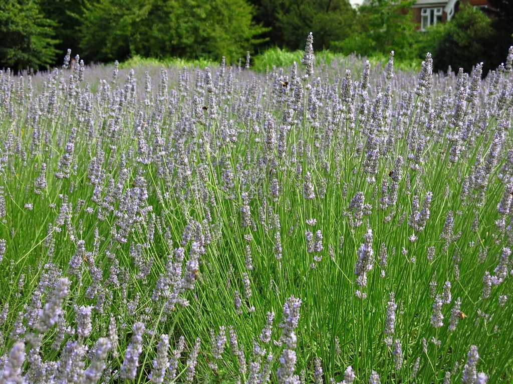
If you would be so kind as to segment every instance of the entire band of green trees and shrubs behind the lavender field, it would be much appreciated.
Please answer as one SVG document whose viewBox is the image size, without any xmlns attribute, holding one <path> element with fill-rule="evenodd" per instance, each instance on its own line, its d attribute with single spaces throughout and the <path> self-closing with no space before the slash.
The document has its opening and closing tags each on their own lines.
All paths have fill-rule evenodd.
<svg viewBox="0 0 513 384">
<path fill-rule="evenodd" d="M 484 12 L 461 5 L 450 22 L 421 33 L 411 14 L 415 0 L 370 0 L 358 10 L 348 0 L 4 0 L 0 68 L 58 66 L 68 48 L 86 62 L 234 62 L 246 51 L 303 50 L 313 32 L 316 52 L 381 59 L 394 50 L 404 62 L 431 52 L 435 70 L 468 71 L 483 61 L 486 74 L 513 45 L 513 2 L 488 1 Z"/>
</svg>

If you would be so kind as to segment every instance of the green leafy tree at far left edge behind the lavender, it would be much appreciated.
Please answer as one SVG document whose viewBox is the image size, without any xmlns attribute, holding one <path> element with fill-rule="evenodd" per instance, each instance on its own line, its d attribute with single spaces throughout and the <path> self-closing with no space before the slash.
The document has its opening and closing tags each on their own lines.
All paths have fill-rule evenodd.
<svg viewBox="0 0 513 384">
<path fill-rule="evenodd" d="M 32 0 L 3 0 L 0 6 L 0 68 L 45 68 L 57 50 L 55 23 Z"/>
</svg>

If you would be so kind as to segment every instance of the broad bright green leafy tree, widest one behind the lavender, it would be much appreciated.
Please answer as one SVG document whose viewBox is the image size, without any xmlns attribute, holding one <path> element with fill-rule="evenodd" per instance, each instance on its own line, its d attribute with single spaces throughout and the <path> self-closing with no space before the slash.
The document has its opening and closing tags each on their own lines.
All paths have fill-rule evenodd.
<svg viewBox="0 0 513 384">
<path fill-rule="evenodd" d="M 245 0 L 100 0 L 85 7 L 81 47 L 90 60 L 180 56 L 236 60 L 263 28 Z"/>
</svg>

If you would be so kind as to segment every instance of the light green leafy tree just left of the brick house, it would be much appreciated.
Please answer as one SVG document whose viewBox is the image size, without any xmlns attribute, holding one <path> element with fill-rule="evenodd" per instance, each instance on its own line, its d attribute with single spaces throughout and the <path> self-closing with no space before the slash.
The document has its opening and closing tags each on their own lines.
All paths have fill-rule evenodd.
<svg viewBox="0 0 513 384">
<path fill-rule="evenodd" d="M 371 0 L 359 9 L 357 28 L 333 48 L 346 54 L 387 55 L 395 51 L 398 58 L 417 56 L 419 32 L 411 16 L 410 1 Z"/>
</svg>

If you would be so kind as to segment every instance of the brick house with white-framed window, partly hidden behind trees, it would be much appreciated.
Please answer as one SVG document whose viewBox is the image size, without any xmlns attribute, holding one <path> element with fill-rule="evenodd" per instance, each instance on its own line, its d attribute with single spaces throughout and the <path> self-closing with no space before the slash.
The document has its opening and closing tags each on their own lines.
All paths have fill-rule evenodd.
<svg viewBox="0 0 513 384">
<path fill-rule="evenodd" d="M 487 0 L 462 0 L 464 3 L 481 9 L 488 6 Z M 437 23 L 449 21 L 460 7 L 458 0 L 417 0 L 413 5 L 413 18 L 421 31 Z"/>
</svg>

